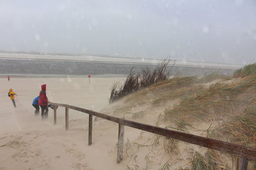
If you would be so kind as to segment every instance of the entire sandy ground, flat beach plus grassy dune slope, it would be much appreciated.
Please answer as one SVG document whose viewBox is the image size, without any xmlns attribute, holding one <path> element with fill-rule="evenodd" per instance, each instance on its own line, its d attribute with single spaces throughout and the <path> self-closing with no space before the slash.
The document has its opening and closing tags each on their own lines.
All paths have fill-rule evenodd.
<svg viewBox="0 0 256 170">
<path fill-rule="evenodd" d="M 241 124 L 241 115 L 248 117 L 248 120 L 255 120 L 254 114 L 248 115 L 247 112 L 243 112 L 248 110 L 246 108 L 253 109 L 250 107 L 252 101 L 255 101 L 255 76 L 219 76 L 216 79 L 213 75 L 212 78 L 205 77 L 200 80 L 188 76 L 175 77 L 140 89 L 109 104 L 113 83 L 122 82 L 124 79 L 92 77 L 88 81 L 88 78 L 82 76 L 11 76 L 11 80 L 8 81 L 2 76 L 0 169 L 180 170 L 196 169 L 198 161 L 206 162 L 210 157 L 214 159 L 214 163 L 211 164 L 213 169 L 236 169 L 237 160 L 230 154 L 127 126 L 124 130 L 123 160 L 117 164 L 118 124 L 93 117 L 92 145 L 88 146 L 88 115 L 69 110 L 69 129 L 66 131 L 65 108 L 58 108 L 57 124 L 54 125 L 53 110 L 49 109 L 48 120 L 42 121 L 40 116 L 35 116 L 34 108 L 31 106 L 34 97 L 40 92 L 40 85 L 45 83 L 47 96 L 53 103 L 79 106 L 134 122 L 237 145 L 243 145 L 243 139 L 239 141 L 241 139 L 232 136 L 231 133 L 228 137 L 225 134 L 237 127 L 239 136 L 244 133 L 244 130 L 240 132 L 239 126 L 236 125 Z M 12 101 L 7 96 L 10 88 L 19 94 L 15 98 L 17 108 L 13 108 Z M 220 97 L 220 92 L 225 95 Z M 218 108 L 212 105 L 216 102 L 227 102 L 227 96 L 231 96 L 230 92 L 234 99 L 229 103 L 234 110 L 227 108 L 230 104 L 220 104 Z M 219 97 L 212 98 L 212 95 Z M 245 100 L 248 102 L 241 102 Z M 209 105 L 205 106 L 205 101 L 209 101 Z M 198 107 L 195 107 L 195 104 Z M 223 112 L 224 109 L 233 111 Z M 218 115 L 220 113 L 221 117 Z M 230 127 L 229 130 L 225 122 L 231 119 L 234 120 L 236 127 Z M 253 125 L 254 122 L 252 121 Z M 251 131 L 250 125 L 248 122 L 243 129 Z M 248 139 L 251 140 L 250 146 L 253 147 L 254 137 L 249 136 Z M 206 168 L 208 163 L 204 164 Z M 250 161 L 248 167 L 253 167 L 253 164 L 254 162 Z"/>
</svg>

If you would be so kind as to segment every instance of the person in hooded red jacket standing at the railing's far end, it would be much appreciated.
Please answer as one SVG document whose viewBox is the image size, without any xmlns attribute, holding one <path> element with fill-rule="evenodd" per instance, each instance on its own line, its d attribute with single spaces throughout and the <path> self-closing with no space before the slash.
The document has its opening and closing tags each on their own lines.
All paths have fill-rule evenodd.
<svg viewBox="0 0 256 170">
<path fill-rule="evenodd" d="M 42 116 L 42 120 L 47 119 L 48 118 L 48 99 L 46 96 L 46 85 L 41 85 L 41 91 L 39 94 L 39 100 L 38 100 L 38 104 L 41 107 L 41 116 Z"/>
</svg>

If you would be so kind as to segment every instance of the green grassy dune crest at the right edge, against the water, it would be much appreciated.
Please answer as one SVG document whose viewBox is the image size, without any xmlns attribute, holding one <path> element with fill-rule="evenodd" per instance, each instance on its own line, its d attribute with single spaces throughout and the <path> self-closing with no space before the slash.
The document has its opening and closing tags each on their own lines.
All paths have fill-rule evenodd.
<svg viewBox="0 0 256 170">
<path fill-rule="evenodd" d="M 237 71 L 234 72 L 233 76 L 234 78 L 238 77 L 245 77 L 249 75 L 255 75 L 256 74 L 256 63 L 248 64 L 247 66 L 242 67 L 241 69 L 237 69 Z"/>
</svg>

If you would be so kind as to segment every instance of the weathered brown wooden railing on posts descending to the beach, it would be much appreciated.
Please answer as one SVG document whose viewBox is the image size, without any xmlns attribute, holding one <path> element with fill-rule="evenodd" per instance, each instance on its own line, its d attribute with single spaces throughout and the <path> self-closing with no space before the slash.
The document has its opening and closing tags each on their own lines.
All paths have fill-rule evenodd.
<svg viewBox="0 0 256 170">
<path fill-rule="evenodd" d="M 79 108 L 76 106 L 70 106 L 68 104 L 51 103 L 54 106 L 54 124 L 57 122 L 56 116 L 56 106 L 65 107 L 65 127 L 68 130 L 68 109 L 81 111 L 83 113 L 89 114 L 89 128 L 88 128 L 88 145 L 92 145 L 92 117 L 99 117 L 111 122 L 116 122 L 118 124 L 118 150 L 117 150 L 117 163 L 123 159 L 123 144 L 124 144 L 124 126 L 134 127 L 147 132 L 152 132 L 154 134 L 159 134 L 166 136 L 168 138 L 178 139 L 187 143 L 192 143 L 198 146 L 204 146 L 205 148 L 210 148 L 213 150 L 218 150 L 223 153 L 228 153 L 236 155 L 239 157 L 239 170 L 247 169 L 248 160 L 256 160 L 256 149 L 246 146 L 236 145 L 233 143 L 227 143 L 223 141 L 218 141 L 216 139 L 205 138 L 202 136 L 196 136 L 193 134 L 188 134 L 179 131 L 172 131 L 170 129 L 164 129 L 161 127 L 156 127 L 153 125 L 141 124 L 138 122 L 133 122 L 131 120 L 125 120 L 124 118 L 112 117 L 102 113 L 98 113 L 92 110 L 86 110 L 84 108 Z"/>
</svg>

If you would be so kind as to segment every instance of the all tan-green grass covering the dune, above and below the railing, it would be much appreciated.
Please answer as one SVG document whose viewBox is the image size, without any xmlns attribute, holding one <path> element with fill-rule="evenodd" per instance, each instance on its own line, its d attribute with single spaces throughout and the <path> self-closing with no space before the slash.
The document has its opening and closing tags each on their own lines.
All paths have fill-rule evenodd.
<svg viewBox="0 0 256 170">
<path fill-rule="evenodd" d="M 250 71 L 246 71 L 248 72 Z M 236 79 L 213 73 L 200 80 L 195 77 L 175 77 L 159 81 L 125 97 L 125 106 L 164 106 L 163 103 L 179 99 L 178 104 L 159 115 L 157 126 L 164 124 L 175 131 L 198 132 L 208 138 L 256 148 L 256 75 L 251 73 L 253 71 L 248 76 L 239 74 Z M 212 82 L 216 79 L 219 79 L 216 83 Z M 212 83 L 202 84 L 205 82 Z M 131 107 L 127 107 L 127 110 L 129 108 Z M 198 127 L 199 125 L 202 126 Z M 141 146 L 147 145 L 151 152 L 153 149 L 163 148 L 170 159 L 173 154 L 179 155 L 182 152 L 179 141 L 170 138 L 154 136 L 148 143 Z M 206 148 L 204 152 L 194 151 L 193 155 L 191 169 L 230 169 L 223 159 L 227 157 L 233 161 L 232 168 L 236 167 L 237 157 L 233 155 Z M 149 164 L 149 159 L 145 160 Z M 250 167 L 255 165 L 254 163 L 250 162 Z M 162 169 L 172 169 L 170 165 L 170 162 L 166 162 Z"/>
</svg>

